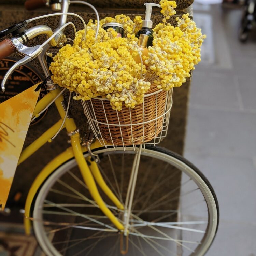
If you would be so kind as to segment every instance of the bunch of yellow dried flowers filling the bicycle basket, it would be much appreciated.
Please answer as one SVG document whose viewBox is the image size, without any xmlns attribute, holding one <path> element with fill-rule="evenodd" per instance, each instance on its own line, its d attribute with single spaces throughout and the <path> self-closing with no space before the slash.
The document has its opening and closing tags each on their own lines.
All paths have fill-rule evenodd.
<svg viewBox="0 0 256 256">
<path fill-rule="evenodd" d="M 135 34 L 141 29 L 142 19 L 136 16 L 117 15 L 100 21 L 97 39 L 97 20 L 90 20 L 84 30 L 75 35 L 73 45 L 66 44 L 53 58 L 50 70 L 52 79 L 61 87 L 76 92 L 76 100 L 103 97 L 110 100 L 112 108 L 134 108 L 143 102 L 143 96 L 151 84 L 169 90 L 181 86 L 189 77 L 190 70 L 200 61 L 200 46 L 204 35 L 193 20 L 184 14 L 177 17 L 178 26 L 167 22 L 175 14 L 175 1 L 160 1 L 163 23 L 154 28 L 153 46 L 149 55 L 143 56 L 147 65 L 137 64 L 130 50 L 138 54 Z M 105 31 L 101 26 L 118 22 L 125 28 L 125 37 L 117 37 L 113 28 Z"/>
</svg>

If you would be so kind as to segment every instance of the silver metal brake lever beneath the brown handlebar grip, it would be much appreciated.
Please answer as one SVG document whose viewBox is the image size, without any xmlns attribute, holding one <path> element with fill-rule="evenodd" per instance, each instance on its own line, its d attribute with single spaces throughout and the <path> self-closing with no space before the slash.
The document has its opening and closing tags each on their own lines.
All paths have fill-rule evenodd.
<svg viewBox="0 0 256 256">
<path fill-rule="evenodd" d="M 5 83 L 8 80 L 8 78 L 11 76 L 11 74 L 15 71 L 16 68 L 30 62 L 31 60 L 33 60 L 34 58 L 36 58 L 43 50 L 43 47 L 41 45 L 36 45 L 33 47 L 27 47 L 25 45 L 23 45 L 22 43 L 19 42 L 18 39 L 16 38 L 12 38 L 11 39 L 12 43 L 14 44 L 15 48 L 17 49 L 17 51 L 19 53 L 24 54 L 25 56 L 20 59 L 19 61 L 17 61 L 9 70 L 8 72 L 5 74 L 5 76 L 3 77 L 2 83 L 1 83 L 1 88 L 2 91 L 5 91 Z"/>
</svg>

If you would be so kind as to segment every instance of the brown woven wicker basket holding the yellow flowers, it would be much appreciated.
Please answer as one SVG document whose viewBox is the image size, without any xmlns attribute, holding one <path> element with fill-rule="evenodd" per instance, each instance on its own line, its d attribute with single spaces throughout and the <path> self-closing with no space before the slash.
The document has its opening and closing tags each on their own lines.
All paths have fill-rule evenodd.
<svg viewBox="0 0 256 256">
<path fill-rule="evenodd" d="M 91 99 L 94 118 L 101 136 L 113 145 L 137 145 L 154 139 L 163 128 L 167 91 L 152 84 L 144 102 L 134 109 L 113 110 L 108 100 Z"/>
</svg>

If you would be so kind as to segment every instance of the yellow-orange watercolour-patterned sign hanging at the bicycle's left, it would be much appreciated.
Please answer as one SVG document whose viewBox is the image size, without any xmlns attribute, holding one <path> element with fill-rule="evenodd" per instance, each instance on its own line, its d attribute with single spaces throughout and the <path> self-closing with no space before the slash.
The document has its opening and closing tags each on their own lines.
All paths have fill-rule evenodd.
<svg viewBox="0 0 256 256">
<path fill-rule="evenodd" d="M 4 209 L 40 90 L 37 85 L 0 104 L 0 207 Z"/>
</svg>

